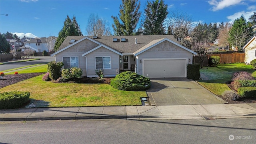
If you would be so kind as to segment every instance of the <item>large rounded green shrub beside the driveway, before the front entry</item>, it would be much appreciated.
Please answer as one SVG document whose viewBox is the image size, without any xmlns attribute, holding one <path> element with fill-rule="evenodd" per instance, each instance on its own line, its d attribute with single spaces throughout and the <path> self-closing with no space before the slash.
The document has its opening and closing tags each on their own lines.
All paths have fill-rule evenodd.
<svg viewBox="0 0 256 144">
<path fill-rule="evenodd" d="M 127 71 L 116 75 L 110 81 L 110 85 L 118 90 L 142 91 L 150 88 L 150 79 L 135 72 Z"/>
</svg>

